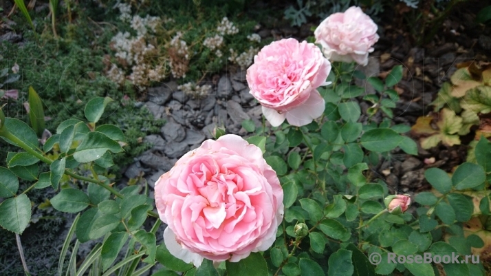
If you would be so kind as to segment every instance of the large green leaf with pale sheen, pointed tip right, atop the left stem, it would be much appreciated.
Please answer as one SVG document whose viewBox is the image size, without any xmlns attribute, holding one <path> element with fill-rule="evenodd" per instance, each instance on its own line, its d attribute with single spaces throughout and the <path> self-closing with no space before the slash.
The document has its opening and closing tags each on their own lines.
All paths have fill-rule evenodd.
<svg viewBox="0 0 491 276">
<path fill-rule="evenodd" d="M 77 162 L 87 163 L 97 160 L 106 151 L 118 153 L 123 151 L 123 149 L 115 140 L 112 140 L 105 134 L 94 131 L 87 134 L 87 138 L 77 147 L 74 158 Z"/>
</svg>

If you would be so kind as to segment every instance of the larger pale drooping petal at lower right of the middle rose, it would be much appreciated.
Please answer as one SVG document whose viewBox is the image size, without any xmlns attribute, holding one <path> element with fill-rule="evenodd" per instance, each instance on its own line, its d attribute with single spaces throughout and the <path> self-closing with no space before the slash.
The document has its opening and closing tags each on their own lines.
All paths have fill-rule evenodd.
<svg viewBox="0 0 491 276">
<path fill-rule="evenodd" d="M 290 125 L 301 127 L 312 123 L 312 120 L 319 118 L 325 109 L 325 101 L 319 92 L 310 94 L 309 99 L 301 106 L 290 110 L 286 118 Z"/>
</svg>

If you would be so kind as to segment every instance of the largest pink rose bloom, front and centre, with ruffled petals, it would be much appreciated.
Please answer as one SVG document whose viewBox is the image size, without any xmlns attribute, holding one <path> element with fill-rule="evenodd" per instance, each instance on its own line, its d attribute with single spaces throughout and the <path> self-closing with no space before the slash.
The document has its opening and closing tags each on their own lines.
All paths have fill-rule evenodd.
<svg viewBox="0 0 491 276">
<path fill-rule="evenodd" d="M 238 262 L 265 251 L 283 220 L 283 190 L 259 147 L 228 134 L 186 153 L 155 183 L 164 242 L 175 257 Z"/>
</svg>

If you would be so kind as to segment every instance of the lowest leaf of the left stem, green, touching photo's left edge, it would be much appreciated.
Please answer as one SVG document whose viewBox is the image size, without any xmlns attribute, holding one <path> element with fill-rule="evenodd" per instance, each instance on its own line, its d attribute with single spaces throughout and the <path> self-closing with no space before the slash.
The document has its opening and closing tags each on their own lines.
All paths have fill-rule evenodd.
<svg viewBox="0 0 491 276">
<path fill-rule="evenodd" d="M 25 193 L 0 203 L 0 226 L 22 234 L 31 220 L 31 201 Z"/>
</svg>

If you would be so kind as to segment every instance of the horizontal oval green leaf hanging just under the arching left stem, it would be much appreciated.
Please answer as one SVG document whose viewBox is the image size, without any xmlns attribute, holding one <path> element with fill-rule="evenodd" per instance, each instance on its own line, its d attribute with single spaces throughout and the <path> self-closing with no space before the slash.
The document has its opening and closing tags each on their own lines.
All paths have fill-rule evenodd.
<svg viewBox="0 0 491 276">
<path fill-rule="evenodd" d="M 89 206 L 89 197 L 79 189 L 63 189 L 50 200 L 54 209 L 66 213 L 78 213 Z"/>
</svg>

